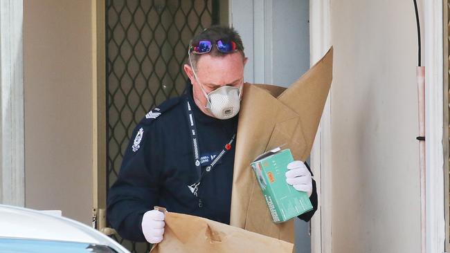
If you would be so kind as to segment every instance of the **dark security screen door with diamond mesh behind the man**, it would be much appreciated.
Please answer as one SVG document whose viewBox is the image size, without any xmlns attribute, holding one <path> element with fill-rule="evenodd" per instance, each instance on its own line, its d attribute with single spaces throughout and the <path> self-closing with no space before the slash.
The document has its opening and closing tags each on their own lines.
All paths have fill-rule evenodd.
<svg viewBox="0 0 450 253">
<path fill-rule="evenodd" d="M 227 22 L 226 2 L 105 1 L 107 189 L 116 181 L 136 124 L 152 107 L 183 92 L 188 43 L 205 27 Z M 131 252 L 150 251 L 147 243 L 113 237 Z"/>
</svg>

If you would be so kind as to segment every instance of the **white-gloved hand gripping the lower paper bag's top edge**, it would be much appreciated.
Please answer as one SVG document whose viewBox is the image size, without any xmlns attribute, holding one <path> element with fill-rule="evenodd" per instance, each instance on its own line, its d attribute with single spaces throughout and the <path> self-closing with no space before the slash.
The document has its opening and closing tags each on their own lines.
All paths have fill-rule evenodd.
<svg viewBox="0 0 450 253">
<path fill-rule="evenodd" d="M 149 243 L 163 241 L 165 215 L 158 210 L 147 211 L 142 217 L 142 232 Z"/>
</svg>

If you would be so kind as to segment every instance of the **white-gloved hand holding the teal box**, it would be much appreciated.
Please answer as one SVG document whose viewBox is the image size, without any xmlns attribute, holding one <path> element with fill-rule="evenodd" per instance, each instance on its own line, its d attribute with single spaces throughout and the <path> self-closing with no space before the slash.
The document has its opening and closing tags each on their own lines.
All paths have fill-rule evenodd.
<svg viewBox="0 0 450 253">
<path fill-rule="evenodd" d="M 308 197 L 312 194 L 312 177 L 302 161 L 289 162 L 287 165 L 286 182 L 297 191 L 305 191 Z"/>
</svg>

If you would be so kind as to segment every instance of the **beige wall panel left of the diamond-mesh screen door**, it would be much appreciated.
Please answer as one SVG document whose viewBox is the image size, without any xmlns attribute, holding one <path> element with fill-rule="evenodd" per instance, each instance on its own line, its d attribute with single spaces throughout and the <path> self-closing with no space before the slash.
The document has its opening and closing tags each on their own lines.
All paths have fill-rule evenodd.
<svg viewBox="0 0 450 253">
<path fill-rule="evenodd" d="M 91 1 L 24 1 L 26 207 L 92 208 Z"/>
</svg>

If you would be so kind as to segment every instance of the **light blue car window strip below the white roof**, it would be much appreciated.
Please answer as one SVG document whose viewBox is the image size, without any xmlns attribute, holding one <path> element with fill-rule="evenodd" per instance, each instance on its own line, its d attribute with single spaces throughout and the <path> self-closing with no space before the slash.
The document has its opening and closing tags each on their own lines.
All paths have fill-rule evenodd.
<svg viewBox="0 0 450 253">
<path fill-rule="evenodd" d="M 107 245 L 75 243 L 65 241 L 45 241 L 21 238 L 0 238 L 2 253 L 117 253 Z"/>
</svg>

